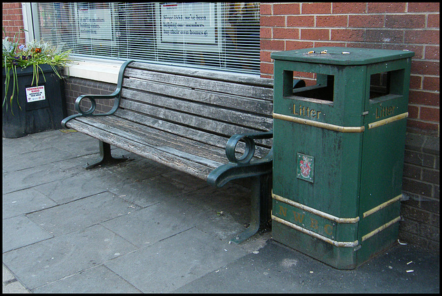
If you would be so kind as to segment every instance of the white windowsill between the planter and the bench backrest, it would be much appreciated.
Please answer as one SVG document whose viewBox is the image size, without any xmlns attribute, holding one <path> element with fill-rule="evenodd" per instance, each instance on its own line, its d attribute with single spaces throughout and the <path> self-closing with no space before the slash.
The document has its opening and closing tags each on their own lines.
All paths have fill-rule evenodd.
<svg viewBox="0 0 442 296">
<path fill-rule="evenodd" d="M 75 60 L 69 67 L 64 67 L 67 77 L 78 77 L 107 83 L 117 83 L 119 68 L 124 61 L 106 59 Z"/>
</svg>

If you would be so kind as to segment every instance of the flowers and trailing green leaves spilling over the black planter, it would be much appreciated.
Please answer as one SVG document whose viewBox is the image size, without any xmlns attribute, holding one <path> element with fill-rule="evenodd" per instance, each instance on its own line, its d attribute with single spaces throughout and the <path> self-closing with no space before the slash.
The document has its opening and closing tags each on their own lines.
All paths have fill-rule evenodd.
<svg viewBox="0 0 442 296">
<path fill-rule="evenodd" d="M 3 38 L 3 69 L 6 72 L 5 77 L 5 97 L 3 98 L 3 106 L 6 105 L 6 110 L 8 106 L 12 106 L 13 101 L 17 101 L 17 105 L 21 109 L 18 100 L 19 86 L 17 83 L 17 67 L 26 68 L 28 66 L 33 67 L 32 85 L 36 81 L 36 86 L 38 86 L 39 72 L 44 77 L 43 70 L 39 65 L 48 64 L 52 67 L 55 74 L 61 79 L 58 67 L 66 66 L 70 61 L 69 58 L 71 50 L 59 50 L 49 43 L 40 41 L 30 41 L 24 44 L 20 44 L 17 41 L 16 36 L 12 40 L 9 37 Z M 10 81 L 12 78 L 12 81 Z M 46 81 L 46 78 L 44 77 Z M 12 94 L 8 97 L 8 90 L 10 89 L 10 84 L 12 83 Z M 17 99 L 15 100 L 15 98 Z M 12 108 L 11 108 L 12 112 Z"/>
</svg>

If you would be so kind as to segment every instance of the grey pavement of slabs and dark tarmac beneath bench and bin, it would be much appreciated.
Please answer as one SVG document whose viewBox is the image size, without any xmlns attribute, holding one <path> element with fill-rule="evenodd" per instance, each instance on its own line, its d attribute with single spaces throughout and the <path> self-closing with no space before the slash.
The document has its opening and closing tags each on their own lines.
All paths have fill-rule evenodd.
<svg viewBox="0 0 442 296">
<path fill-rule="evenodd" d="M 3 146 L 3 293 L 439 293 L 439 253 L 396 244 L 337 270 L 249 222 L 244 183 L 213 188 L 120 149 L 52 130 Z"/>
</svg>

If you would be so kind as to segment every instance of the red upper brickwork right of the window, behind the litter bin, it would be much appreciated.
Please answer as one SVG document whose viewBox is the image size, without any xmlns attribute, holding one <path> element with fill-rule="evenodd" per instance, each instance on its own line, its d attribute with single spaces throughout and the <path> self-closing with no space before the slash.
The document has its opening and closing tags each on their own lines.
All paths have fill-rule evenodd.
<svg viewBox="0 0 442 296">
<path fill-rule="evenodd" d="M 319 46 L 408 49 L 407 129 L 439 137 L 439 9 L 434 3 L 261 3 L 261 75 L 271 52 Z"/>
</svg>

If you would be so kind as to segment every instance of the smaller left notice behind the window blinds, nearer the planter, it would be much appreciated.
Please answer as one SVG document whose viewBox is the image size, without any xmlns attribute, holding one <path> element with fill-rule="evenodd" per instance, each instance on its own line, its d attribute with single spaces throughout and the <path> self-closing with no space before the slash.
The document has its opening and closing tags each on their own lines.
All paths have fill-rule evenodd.
<svg viewBox="0 0 442 296">
<path fill-rule="evenodd" d="M 112 39 L 111 9 L 79 9 L 80 39 Z"/>
</svg>

